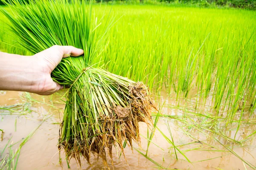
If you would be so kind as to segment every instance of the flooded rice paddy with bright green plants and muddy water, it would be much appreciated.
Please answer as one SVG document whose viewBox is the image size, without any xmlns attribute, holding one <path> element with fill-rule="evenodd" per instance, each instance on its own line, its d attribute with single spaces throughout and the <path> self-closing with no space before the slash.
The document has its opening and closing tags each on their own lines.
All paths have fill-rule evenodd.
<svg viewBox="0 0 256 170">
<path fill-rule="evenodd" d="M 256 12 L 93 5 L 95 18 L 109 13 L 114 24 L 93 64 L 143 81 L 159 108 L 154 126 L 140 123 L 141 146 L 127 145 L 126 159 L 113 148 L 109 168 L 256 169 Z M 31 55 L 0 15 L 0 51 Z M 97 156 L 80 167 L 58 152 L 63 95 L 0 91 L 1 170 L 107 168 Z"/>
</svg>

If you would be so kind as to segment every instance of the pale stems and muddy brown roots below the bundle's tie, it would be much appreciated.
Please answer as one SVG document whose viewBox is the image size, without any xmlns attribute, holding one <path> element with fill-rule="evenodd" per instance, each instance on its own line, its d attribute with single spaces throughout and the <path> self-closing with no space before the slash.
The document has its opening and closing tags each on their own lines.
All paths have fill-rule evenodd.
<svg viewBox="0 0 256 170">
<path fill-rule="evenodd" d="M 108 166 L 106 152 L 112 160 L 113 146 L 116 149 L 119 147 L 123 153 L 123 142 L 127 142 L 131 149 L 132 141 L 140 145 L 139 122 L 151 125 L 151 111 L 157 108 L 148 86 L 142 82 L 133 82 L 99 68 L 89 68 L 83 71 L 84 74 L 80 74 L 79 79 L 76 79 L 69 89 L 72 93 L 67 96 L 70 103 L 66 104 L 64 119 L 60 125 L 58 148 L 64 149 L 67 158 L 69 160 L 75 158 L 80 165 L 80 156 L 83 156 L 90 164 L 92 153 L 102 158 L 104 164 Z M 90 88 L 87 89 L 89 91 L 85 90 L 87 95 L 83 96 L 81 94 L 84 92 L 81 92 L 80 85 L 86 79 L 90 79 L 90 82 L 87 82 Z M 96 79 L 102 81 L 91 82 Z M 78 86 L 80 88 L 77 88 Z M 73 100 L 74 94 L 80 94 L 76 96 L 76 101 Z M 97 97 L 88 98 L 90 94 L 92 96 L 96 94 Z M 87 101 L 87 104 L 90 102 L 91 104 L 84 109 L 84 104 L 74 105 L 79 101 Z M 69 119 L 68 114 L 73 114 L 69 111 L 77 112 L 77 118 Z M 95 115 L 95 117 L 90 115 Z"/>
</svg>

